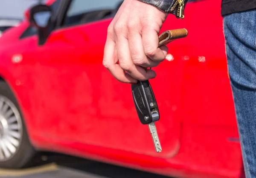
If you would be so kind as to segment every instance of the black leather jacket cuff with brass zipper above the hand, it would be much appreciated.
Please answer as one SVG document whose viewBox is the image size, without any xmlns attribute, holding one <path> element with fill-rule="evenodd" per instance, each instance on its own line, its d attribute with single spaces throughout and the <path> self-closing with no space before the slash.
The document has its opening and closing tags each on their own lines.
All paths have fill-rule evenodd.
<svg viewBox="0 0 256 178">
<path fill-rule="evenodd" d="M 168 13 L 174 14 L 178 17 L 178 8 L 180 0 L 140 0 L 144 3 L 148 3 L 152 6 L 157 7 L 158 9 Z M 184 0 L 184 6 L 186 6 L 188 0 Z"/>
</svg>

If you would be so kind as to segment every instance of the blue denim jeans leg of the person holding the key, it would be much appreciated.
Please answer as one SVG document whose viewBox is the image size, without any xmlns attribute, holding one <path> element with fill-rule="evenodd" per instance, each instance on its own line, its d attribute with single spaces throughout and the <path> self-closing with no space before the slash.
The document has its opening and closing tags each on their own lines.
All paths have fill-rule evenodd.
<svg viewBox="0 0 256 178">
<path fill-rule="evenodd" d="M 256 178 L 256 10 L 224 17 L 230 84 L 246 178 Z"/>
</svg>

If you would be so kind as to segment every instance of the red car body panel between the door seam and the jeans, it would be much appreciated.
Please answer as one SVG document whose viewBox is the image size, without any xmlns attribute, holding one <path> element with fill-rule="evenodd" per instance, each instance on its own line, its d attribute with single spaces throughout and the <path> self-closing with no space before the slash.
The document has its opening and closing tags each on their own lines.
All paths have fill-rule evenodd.
<svg viewBox="0 0 256 178">
<path fill-rule="evenodd" d="M 187 165 L 240 171 L 241 150 L 227 73 L 221 0 L 191 0 L 185 11 L 182 122 Z M 204 15 L 200 15 L 204 14 Z M 225 164 L 223 164 L 225 163 Z"/>
</svg>

